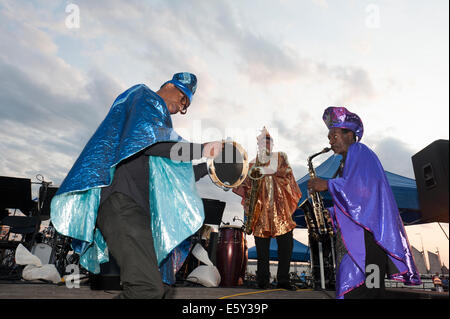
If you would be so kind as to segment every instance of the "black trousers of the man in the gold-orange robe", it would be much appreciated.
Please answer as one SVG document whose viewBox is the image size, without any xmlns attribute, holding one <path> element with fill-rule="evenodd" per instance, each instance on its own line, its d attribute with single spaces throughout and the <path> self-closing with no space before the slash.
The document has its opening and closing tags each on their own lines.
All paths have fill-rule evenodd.
<svg viewBox="0 0 450 319">
<path fill-rule="evenodd" d="M 289 269 L 291 264 L 292 248 L 294 245 L 292 231 L 275 238 L 278 245 L 277 282 L 279 284 L 289 283 Z M 270 237 L 262 238 L 255 236 L 255 246 L 256 254 L 258 256 L 256 279 L 259 285 L 265 285 L 270 281 Z"/>
</svg>

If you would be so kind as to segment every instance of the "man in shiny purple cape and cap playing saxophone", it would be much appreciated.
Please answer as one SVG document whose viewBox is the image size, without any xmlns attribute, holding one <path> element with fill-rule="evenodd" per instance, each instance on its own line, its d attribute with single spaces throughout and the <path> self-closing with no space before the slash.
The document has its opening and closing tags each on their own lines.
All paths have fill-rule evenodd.
<svg viewBox="0 0 450 319">
<path fill-rule="evenodd" d="M 384 298 L 384 278 L 420 284 L 394 195 L 375 155 L 360 142 L 364 128 L 345 107 L 323 114 L 331 149 L 342 155 L 335 178 L 308 181 L 310 191 L 333 198 L 336 232 L 336 298 Z"/>
</svg>

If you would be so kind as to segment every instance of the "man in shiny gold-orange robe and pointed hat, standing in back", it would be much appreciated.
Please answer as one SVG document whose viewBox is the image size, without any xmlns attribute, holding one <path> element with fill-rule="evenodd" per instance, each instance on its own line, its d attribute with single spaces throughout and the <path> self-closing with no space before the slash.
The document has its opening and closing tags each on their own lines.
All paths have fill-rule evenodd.
<svg viewBox="0 0 450 319">
<path fill-rule="evenodd" d="M 270 240 L 274 237 L 278 245 L 277 288 L 295 290 L 289 280 L 292 231 L 297 226 L 292 214 L 297 209 L 302 194 L 286 153 L 272 152 L 273 139 L 266 128 L 263 128 L 257 140 L 258 155 L 250 163 L 250 175 L 259 179 L 247 177 L 233 192 L 242 197 L 246 216 L 251 219 L 246 224 L 255 237 L 259 288 L 267 289 L 270 286 L 269 247 Z M 256 194 L 253 203 L 252 187 Z M 253 212 L 249 211 L 252 206 Z M 249 231 L 247 229 L 247 233 Z"/>
</svg>

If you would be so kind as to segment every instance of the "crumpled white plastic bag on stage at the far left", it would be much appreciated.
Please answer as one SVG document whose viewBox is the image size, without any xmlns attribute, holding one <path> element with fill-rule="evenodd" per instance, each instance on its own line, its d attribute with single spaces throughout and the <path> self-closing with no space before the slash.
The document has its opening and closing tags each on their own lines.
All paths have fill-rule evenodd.
<svg viewBox="0 0 450 319">
<path fill-rule="evenodd" d="M 22 271 L 22 278 L 25 280 L 44 279 L 57 284 L 61 282 L 61 276 L 55 265 L 42 265 L 41 260 L 30 253 L 22 244 L 16 249 L 16 264 L 26 265 Z"/>
</svg>

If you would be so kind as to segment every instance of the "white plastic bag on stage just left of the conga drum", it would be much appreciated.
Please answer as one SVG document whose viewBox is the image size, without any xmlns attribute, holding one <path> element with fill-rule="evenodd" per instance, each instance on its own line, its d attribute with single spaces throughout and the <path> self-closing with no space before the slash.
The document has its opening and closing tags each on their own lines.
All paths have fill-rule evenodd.
<svg viewBox="0 0 450 319">
<path fill-rule="evenodd" d="M 220 273 L 216 266 L 211 262 L 208 253 L 202 245 L 195 245 L 192 254 L 206 265 L 200 265 L 195 268 L 186 278 L 187 281 L 201 284 L 205 287 L 217 287 L 220 283 Z"/>
</svg>

